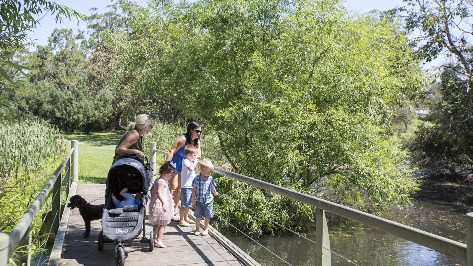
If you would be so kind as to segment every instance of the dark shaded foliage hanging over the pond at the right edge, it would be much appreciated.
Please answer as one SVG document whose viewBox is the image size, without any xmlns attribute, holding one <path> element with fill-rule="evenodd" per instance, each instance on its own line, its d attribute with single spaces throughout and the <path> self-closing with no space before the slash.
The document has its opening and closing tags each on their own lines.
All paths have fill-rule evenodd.
<svg viewBox="0 0 473 266">
<path fill-rule="evenodd" d="M 464 181 L 473 171 L 473 98 L 453 66 L 442 72 L 438 85 L 442 97 L 432 106 L 434 125 L 419 127 L 410 143 L 412 160 L 426 176 Z"/>
</svg>

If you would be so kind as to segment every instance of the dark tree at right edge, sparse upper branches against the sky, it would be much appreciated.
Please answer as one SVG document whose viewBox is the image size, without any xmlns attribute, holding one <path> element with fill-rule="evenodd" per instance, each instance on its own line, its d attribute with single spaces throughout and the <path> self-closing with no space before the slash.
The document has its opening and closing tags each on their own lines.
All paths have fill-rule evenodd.
<svg viewBox="0 0 473 266">
<path fill-rule="evenodd" d="M 422 126 L 412 141 L 418 165 L 432 177 L 457 179 L 473 171 L 471 137 L 473 98 L 473 2 L 457 0 L 405 0 L 398 9 L 406 29 L 420 31 L 420 57 L 430 62 L 447 54 L 453 62 L 441 67 L 442 99 L 432 106 L 433 126 Z M 461 178 L 463 180 L 464 178 Z"/>
</svg>

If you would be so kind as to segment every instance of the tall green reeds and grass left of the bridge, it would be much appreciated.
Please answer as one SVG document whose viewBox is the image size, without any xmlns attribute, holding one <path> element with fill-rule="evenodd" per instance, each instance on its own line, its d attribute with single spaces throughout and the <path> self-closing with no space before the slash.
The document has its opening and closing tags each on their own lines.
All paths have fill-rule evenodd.
<svg viewBox="0 0 473 266">
<path fill-rule="evenodd" d="M 0 128 L 0 231 L 13 229 L 59 165 L 66 147 L 59 131 L 44 121 L 28 120 Z M 40 213 L 49 209 L 50 202 L 51 196 Z M 40 231 L 40 224 L 41 215 L 36 215 L 33 232 Z M 41 251 L 38 243 L 32 246 L 33 253 Z M 19 263 L 24 253 L 16 250 L 9 265 Z"/>
</svg>

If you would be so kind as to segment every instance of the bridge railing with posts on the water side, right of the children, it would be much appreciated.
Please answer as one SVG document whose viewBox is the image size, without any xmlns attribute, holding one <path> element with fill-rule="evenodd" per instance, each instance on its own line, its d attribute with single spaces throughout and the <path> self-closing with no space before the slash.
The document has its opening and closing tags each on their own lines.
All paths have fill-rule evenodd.
<svg viewBox="0 0 473 266">
<path fill-rule="evenodd" d="M 149 158 L 151 160 L 151 166 L 153 169 L 158 168 L 158 166 L 156 165 L 157 153 L 162 154 L 164 156 L 168 154 L 165 151 L 157 150 L 156 143 L 151 142 L 149 144 Z M 412 241 L 424 247 L 432 248 L 439 252 L 445 253 L 448 256 L 465 261 L 467 266 L 473 266 L 473 212 L 466 213 L 467 244 L 464 244 L 451 239 L 447 239 L 445 237 L 438 236 L 436 234 L 432 234 L 404 225 L 402 223 L 394 222 L 369 213 L 364 213 L 359 210 L 343 206 L 341 204 L 336 204 L 321 198 L 306 195 L 282 186 L 276 186 L 271 183 L 254 179 L 252 177 L 240 175 L 222 168 L 216 167 L 213 171 L 219 173 L 220 175 L 231 177 L 246 184 L 256 186 L 264 190 L 314 206 L 316 208 L 316 265 L 331 265 L 330 241 L 328 238 L 327 220 L 325 219 L 325 211 L 327 211 L 329 213 L 333 213 L 347 218 L 351 221 L 363 223 L 378 230 L 390 233 L 396 237 Z"/>
</svg>

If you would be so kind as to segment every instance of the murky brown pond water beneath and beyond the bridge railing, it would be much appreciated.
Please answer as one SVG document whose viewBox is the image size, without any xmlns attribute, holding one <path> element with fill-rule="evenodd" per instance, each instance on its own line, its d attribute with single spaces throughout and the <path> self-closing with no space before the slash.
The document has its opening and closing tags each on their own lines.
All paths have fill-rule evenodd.
<svg viewBox="0 0 473 266">
<path fill-rule="evenodd" d="M 466 243 L 465 213 L 468 212 L 473 212 L 473 208 L 462 204 L 414 200 L 410 208 L 392 208 L 382 217 Z M 356 222 L 340 221 L 339 217 L 328 213 L 326 215 L 329 219 L 331 249 L 360 266 L 466 265 L 462 260 L 430 248 Z M 263 266 L 315 265 L 315 243 L 295 237 L 292 233 L 265 236 L 257 240 L 287 263 L 245 236 L 225 236 Z M 315 242 L 315 233 L 308 232 L 307 238 Z M 335 254 L 331 257 L 333 266 L 355 265 Z"/>
</svg>

